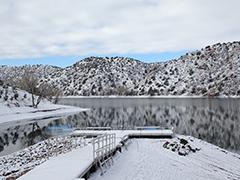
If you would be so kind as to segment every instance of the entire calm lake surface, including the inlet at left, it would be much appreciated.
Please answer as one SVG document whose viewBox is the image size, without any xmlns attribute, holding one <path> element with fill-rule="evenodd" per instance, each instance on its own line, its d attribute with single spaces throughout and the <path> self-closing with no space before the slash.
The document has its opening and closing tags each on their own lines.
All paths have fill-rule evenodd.
<svg viewBox="0 0 240 180">
<path fill-rule="evenodd" d="M 240 99 L 81 98 L 62 99 L 60 103 L 90 111 L 60 119 L 0 125 L 0 156 L 88 126 L 173 126 L 178 134 L 240 151 Z"/>
</svg>

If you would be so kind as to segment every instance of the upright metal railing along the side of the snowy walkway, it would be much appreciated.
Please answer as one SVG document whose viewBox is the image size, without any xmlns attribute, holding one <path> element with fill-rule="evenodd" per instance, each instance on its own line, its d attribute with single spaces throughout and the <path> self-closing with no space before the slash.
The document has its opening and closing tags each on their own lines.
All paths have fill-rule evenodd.
<svg viewBox="0 0 240 180">
<path fill-rule="evenodd" d="M 116 134 L 102 134 L 92 140 L 93 158 L 100 166 L 101 175 L 104 167 L 113 163 L 112 153 L 116 146 Z"/>
</svg>

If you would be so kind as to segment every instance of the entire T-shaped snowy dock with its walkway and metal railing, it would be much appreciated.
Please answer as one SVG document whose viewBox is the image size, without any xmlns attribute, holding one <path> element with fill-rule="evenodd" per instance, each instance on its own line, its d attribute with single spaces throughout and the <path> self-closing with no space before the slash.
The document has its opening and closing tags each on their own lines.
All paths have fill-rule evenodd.
<svg viewBox="0 0 240 180">
<path fill-rule="evenodd" d="M 92 138 L 86 146 L 74 149 L 66 154 L 53 157 L 35 167 L 20 180 L 42 178 L 44 180 L 68 180 L 88 178 L 101 162 L 108 160 L 131 138 L 172 138 L 172 129 L 137 130 L 75 130 L 72 136 Z M 101 158 L 101 162 L 100 162 Z"/>
</svg>

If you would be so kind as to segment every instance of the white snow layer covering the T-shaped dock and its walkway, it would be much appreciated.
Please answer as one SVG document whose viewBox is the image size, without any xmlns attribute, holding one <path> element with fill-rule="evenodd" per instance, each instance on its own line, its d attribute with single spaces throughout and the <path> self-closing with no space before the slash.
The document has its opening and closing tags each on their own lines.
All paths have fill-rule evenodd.
<svg viewBox="0 0 240 180">
<path fill-rule="evenodd" d="M 128 138 L 132 137 L 172 137 L 172 130 L 76 130 L 73 136 L 96 137 L 103 134 L 114 134 L 115 145 L 110 149 L 111 153 L 121 147 Z M 103 144 L 105 146 L 105 144 Z M 45 163 L 35 167 L 20 180 L 45 179 L 67 180 L 84 177 L 88 171 L 96 165 L 97 157 L 93 153 L 93 143 L 74 149 L 66 154 L 53 157 Z M 98 147 L 99 148 L 99 147 Z M 105 151 L 104 151 L 105 152 Z M 106 152 L 109 153 L 109 152 Z"/>
</svg>

